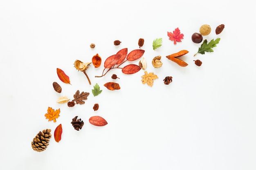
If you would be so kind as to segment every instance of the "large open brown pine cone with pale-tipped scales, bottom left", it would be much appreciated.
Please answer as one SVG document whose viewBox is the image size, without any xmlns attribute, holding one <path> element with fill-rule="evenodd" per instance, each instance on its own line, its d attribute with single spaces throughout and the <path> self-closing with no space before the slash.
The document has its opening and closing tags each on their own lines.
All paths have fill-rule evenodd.
<svg viewBox="0 0 256 170">
<path fill-rule="evenodd" d="M 31 142 L 32 149 L 37 152 L 44 151 L 49 145 L 49 139 L 51 139 L 51 137 L 51 129 L 46 129 L 43 130 L 43 132 L 38 132 L 36 137 L 34 137 L 33 141 Z"/>
</svg>

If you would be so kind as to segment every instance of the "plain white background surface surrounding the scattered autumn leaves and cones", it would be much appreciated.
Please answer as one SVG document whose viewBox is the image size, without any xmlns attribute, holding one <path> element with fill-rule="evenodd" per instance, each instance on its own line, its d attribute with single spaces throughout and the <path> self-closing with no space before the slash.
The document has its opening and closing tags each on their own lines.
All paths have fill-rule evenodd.
<svg viewBox="0 0 256 170">
<path fill-rule="evenodd" d="M 1 0 L 0 169 L 255 170 L 256 13 L 251 2 Z M 202 24 L 212 28 L 204 39 L 221 40 L 213 53 L 193 57 L 200 44 L 191 35 Z M 225 29 L 216 35 L 219 24 Z M 177 27 L 184 39 L 174 45 L 167 31 Z M 159 77 L 152 87 L 141 83 L 143 70 L 124 75 L 113 69 L 95 78 L 103 64 L 91 65 L 89 85 L 74 68 L 75 60 L 90 62 L 97 53 L 104 62 L 120 49 L 139 49 L 139 38 L 145 40 L 146 71 Z M 154 51 L 156 38 L 163 43 Z M 121 44 L 114 46 L 114 40 Z M 183 49 L 189 51 L 180 57 L 186 67 L 165 57 Z M 163 63 L 158 69 L 151 64 L 157 55 Z M 58 79 L 56 68 L 72 85 Z M 120 79 L 111 79 L 114 73 Z M 169 85 L 164 85 L 166 76 L 173 77 Z M 103 86 L 112 81 L 121 89 Z M 61 94 L 53 82 L 61 85 Z M 103 92 L 94 97 L 96 83 Z M 56 103 L 61 96 L 73 99 L 77 90 L 90 93 L 85 104 Z M 48 107 L 61 109 L 55 123 L 45 119 Z M 108 124 L 91 125 L 88 119 L 94 115 Z M 70 124 L 75 116 L 85 123 L 79 131 Z M 53 135 L 59 124 L 61 141 L 52 136 L 45 151 L 35 152 L 31 141 L 36 134 L 49 128 Z"/>
</svg>

